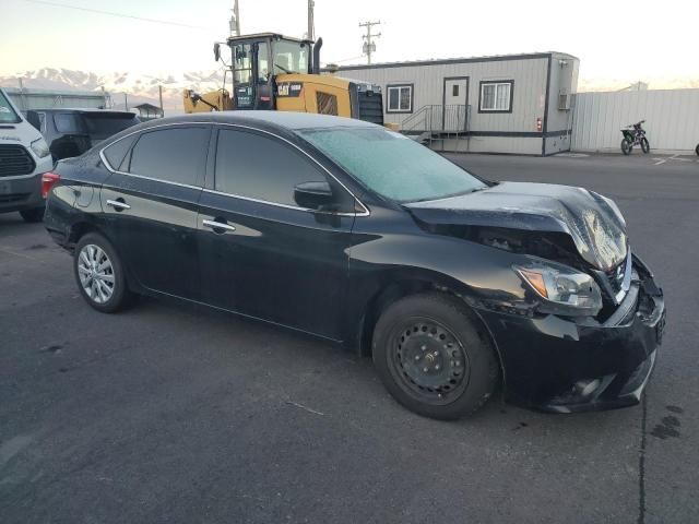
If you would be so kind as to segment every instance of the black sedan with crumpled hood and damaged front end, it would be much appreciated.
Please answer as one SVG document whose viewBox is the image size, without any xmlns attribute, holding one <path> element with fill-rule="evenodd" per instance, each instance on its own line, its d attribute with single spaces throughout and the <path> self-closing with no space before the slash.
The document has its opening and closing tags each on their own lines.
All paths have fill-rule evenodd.
<svg viewBox="0 0 699 524">
<path fill-rule="evenodd" d="M 232 311 L 371 355 L 435 418 L 506 397 L 557 413 L 637 404 L 665 317 L 609 199 L 491 182 L 329 116 L 191 115 L 123 131 L 44 177 L 79 289 Z M 146 348 L 144 348 L 145 350 Z"/>
</svg>

